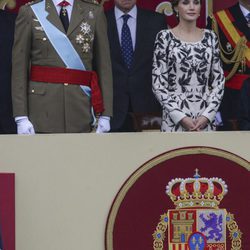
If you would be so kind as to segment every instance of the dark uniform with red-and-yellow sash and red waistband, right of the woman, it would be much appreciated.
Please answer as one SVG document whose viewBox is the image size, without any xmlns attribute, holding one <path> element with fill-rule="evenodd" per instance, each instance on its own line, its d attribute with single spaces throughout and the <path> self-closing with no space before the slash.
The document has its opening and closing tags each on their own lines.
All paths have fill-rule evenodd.
<svg viewBox="0 0 250 250">
<path fill-rule="evenodd" d="M 233 61 L 233 51 L 235 49 L 234 41 L 237 40 L 237 37 L 244 36 L 247 40 L 246 45 L 248 46 L 248 50 L 250 50 L 250 28 L 247 25 L 246 18 L 244 17 L 239 3 L 229 7 L 228 9 L 223 10 L 224 16 L 226 16 L 226 22 L 230 23 L 230 25 L 222 25 L 222 23 L 217 22 L 218 25 L 218 37 L 220 40 L 221 50 L 223 51 L 224 56 L 227 58 L 230 63 L 223 62 L 223 69 L 226 73 L 231 72 L 236 62 Z M 215 16 L 221 15 L 222 11 L 215 13 Z M 232 33 L 231 30 L 234 30 L 234 36 L 237 34 L 236 38 L 230 36 Z M 240 46 L 241 47 L 241 46 Z M 248 52 L 249 55 L 249 52 Z M 249 56 L 248 56 L 249 57 Z M 241 75 L 250 75 L 250 60 L 245 60 L 245 63 L 239 63 L 237 67 L 237 71 L 234 76 L 226 81 L 225 83 L 225 93 L 224 98 L 222 100 L 220 111 L 222 113 L 222 119 L 224 123 L 225 130 L 231 130 L 231 122 L 236 121 L 238 117 L 238 109 L 239 109 L 239 94 L 240 88 L 243 84 L 244 80 L 241 80 L 239 76 Z"/>
</svg>

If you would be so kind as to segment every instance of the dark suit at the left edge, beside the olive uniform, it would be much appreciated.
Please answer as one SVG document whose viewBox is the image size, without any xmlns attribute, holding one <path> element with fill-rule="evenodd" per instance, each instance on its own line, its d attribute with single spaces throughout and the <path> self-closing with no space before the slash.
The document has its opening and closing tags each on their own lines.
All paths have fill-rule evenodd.
<svg viewBox="0 0 250 250">
<path fill-rule="evenodd" d="M 11 51 L 16 14 L 0 10 L 0 133 L 16 133 L 11 101 Z"/>
</svg>

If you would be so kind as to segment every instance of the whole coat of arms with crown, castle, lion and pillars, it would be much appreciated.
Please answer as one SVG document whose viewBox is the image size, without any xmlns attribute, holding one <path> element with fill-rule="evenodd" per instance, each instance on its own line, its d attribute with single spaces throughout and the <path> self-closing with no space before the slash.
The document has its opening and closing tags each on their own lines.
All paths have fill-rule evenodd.
<svg viewBox="0 0 250 250">
<path fill-rule="evenodd" d="M 154 250 L 166 249 L 166 236 L 169 250 L 242 249 L 242 233 L 234 216 L 219 208 L 228 193 L 222 179 L 201 177 L 196 169 L 193 178 L 171 180 L 166 193 L 176 208 L 161 216 L 153 234 Z M 231 247 L 227 246 L 227 230 Z"/>
</svg>

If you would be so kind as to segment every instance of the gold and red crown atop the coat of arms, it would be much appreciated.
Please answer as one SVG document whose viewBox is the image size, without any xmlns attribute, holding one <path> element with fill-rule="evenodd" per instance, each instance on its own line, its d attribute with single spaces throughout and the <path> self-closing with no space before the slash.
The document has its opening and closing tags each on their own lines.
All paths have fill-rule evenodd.
<svg viewBox="0 0 250 250">
<path fill-rule="evenodd" d="M 193 178 L 176 178 L 168 183 L 166 193 L 174 202 L 176 209 L 218 208 L 227 194 L 225 181 L 218 177 L 201 177 L 198 171 L 195 170 Z"/>
</svg>

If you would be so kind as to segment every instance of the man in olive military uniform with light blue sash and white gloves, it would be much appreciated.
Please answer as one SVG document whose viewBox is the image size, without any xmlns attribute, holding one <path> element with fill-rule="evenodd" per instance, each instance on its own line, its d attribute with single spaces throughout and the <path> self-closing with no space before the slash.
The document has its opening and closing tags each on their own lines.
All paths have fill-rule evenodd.
<svg viewBox="0 0 250 250">
<path fill-rule="evenodd" d="M 109 131 L 111 63 L 98 2 L 38 0 L 22 6 L 12 65 L 18 134 L 89 132 L 93 110 L 100 116 L 97 132 Z"/>
</svg>

